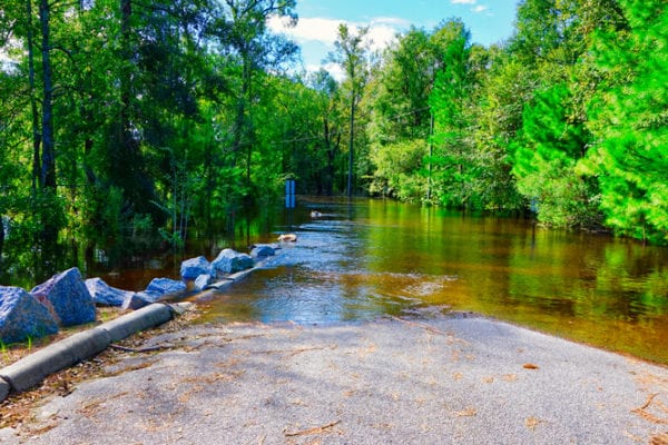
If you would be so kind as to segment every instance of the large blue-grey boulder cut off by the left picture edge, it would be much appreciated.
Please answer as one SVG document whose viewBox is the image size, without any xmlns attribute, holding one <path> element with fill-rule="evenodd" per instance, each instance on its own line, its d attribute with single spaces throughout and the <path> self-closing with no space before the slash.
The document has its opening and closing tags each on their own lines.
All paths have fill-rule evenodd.
<svg viewBox="0 0 668 445">
<path fill-rule="evenodd" d="M 37 298 L 20 287 L 0 286 L 0 339 L 3 344 L 57 332 L 56 319 Z"/>
</svg>

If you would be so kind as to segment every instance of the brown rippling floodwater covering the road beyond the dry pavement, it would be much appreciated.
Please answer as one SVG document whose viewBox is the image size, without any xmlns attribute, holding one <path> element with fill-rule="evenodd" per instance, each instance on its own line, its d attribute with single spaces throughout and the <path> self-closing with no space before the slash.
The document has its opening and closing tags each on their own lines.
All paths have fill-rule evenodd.
<svg viewBox="0 0 668 445">
<path fill-rule="evenodd" d="M 668 364 L 668 248 L 367 199 L 301 201 L 284 219 L 272 238 L 297 243 L 199 299 L 204 322 L 475 312 Z"/>
</svg>

